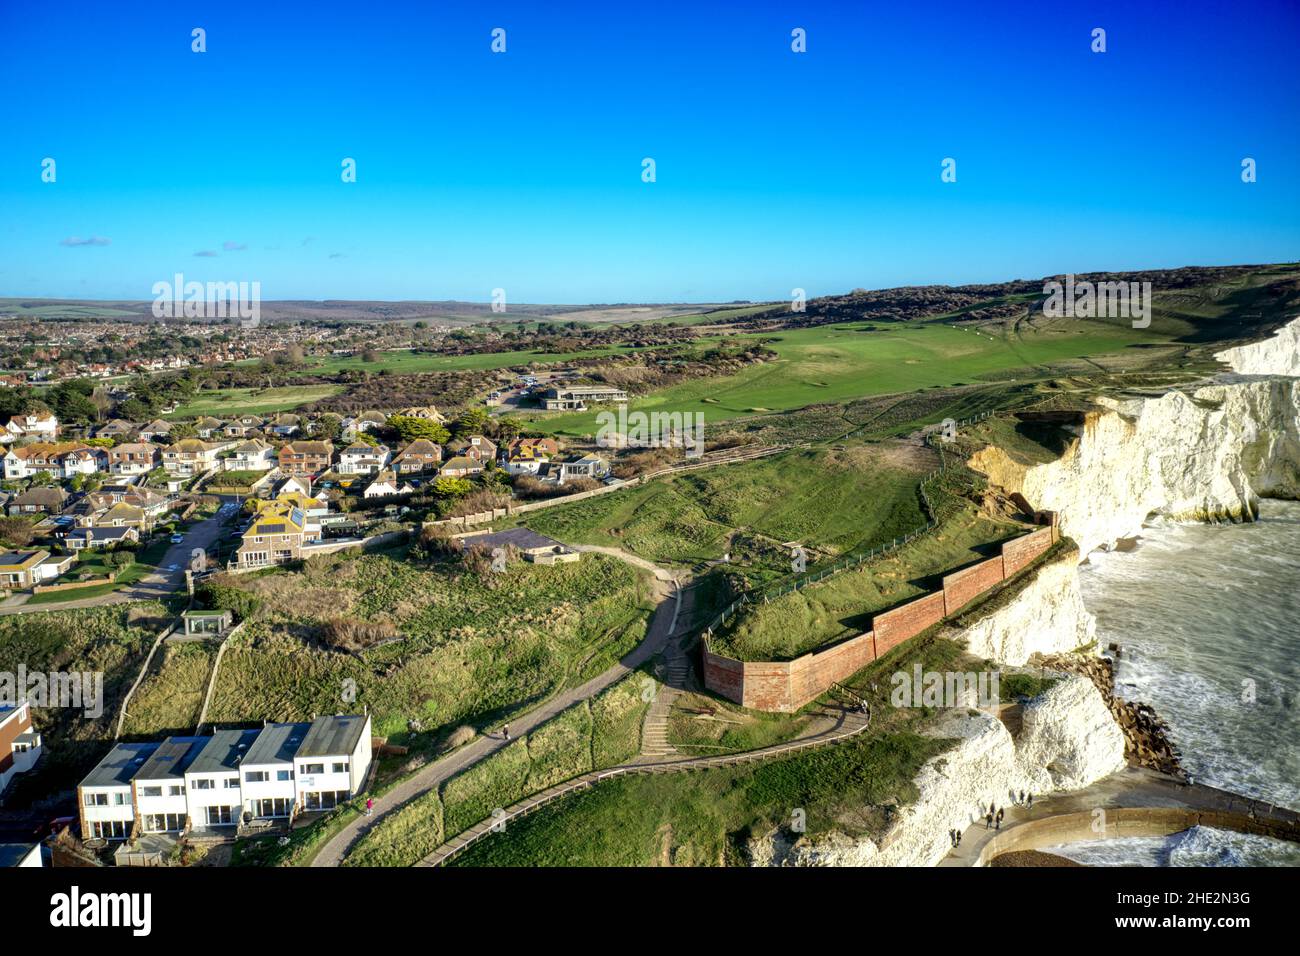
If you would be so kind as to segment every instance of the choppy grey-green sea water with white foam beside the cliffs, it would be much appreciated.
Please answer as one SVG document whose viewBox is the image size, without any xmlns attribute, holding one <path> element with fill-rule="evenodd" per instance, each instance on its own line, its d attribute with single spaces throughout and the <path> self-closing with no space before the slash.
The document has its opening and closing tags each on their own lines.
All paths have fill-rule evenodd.
<svg viewBox="0 0 1300 956">
<path fill-rule="evenodd" d="M 1265 501 L 1249 524 L 1152 520 L 1136 548 L 1079 568 L 1115 692 L 1169 724 L 1199 783 L 1300 809 L 1300 503 Z M 1193 827 L 1170 838 L 1075 843 L 1092 865 L 1296 866 L 1300 845 Z"/>
</svg>

